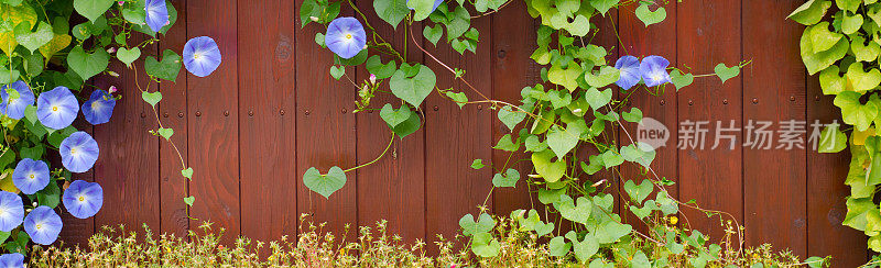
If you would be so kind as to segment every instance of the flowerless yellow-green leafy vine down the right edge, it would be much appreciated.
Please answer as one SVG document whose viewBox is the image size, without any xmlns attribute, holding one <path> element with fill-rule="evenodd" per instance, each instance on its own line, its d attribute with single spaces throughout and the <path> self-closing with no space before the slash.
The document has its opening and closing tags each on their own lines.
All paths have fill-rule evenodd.
<svg viewBox="0 0 881 268">
<path fill-rule="evenodd" d="M 827 16 L 827 13 L 830 14 Z M 844 224 L 869 236 L 868 246 L 881 252 L 881 2 L 875 0 L 811 0 L 788 19 L 806 25 L 800 42 L 802 60 L 817 75 L 824 94 L 835 96 L 842 125 L 820 134 L 819 153 L 850 147 L 850 186 Z M 815 79 L 817 79 L 815 78 Z M 849 137 L 848 137 L 849 133 Z"/>
</svg>

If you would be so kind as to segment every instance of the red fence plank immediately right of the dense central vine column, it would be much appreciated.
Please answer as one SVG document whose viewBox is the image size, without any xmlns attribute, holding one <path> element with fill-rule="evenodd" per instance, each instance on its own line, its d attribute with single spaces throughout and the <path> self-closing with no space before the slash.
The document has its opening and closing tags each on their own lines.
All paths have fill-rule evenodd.
<svg viewBox="0 0 881 268">
<path fill-rule="evenodd" d="M 689 66 L 695 74 L 713 74 L 718 63 L 728 66 L 741 60 L 740 1 L 739 0 L 695 0 L 678 3 L 676 7 L 678 32 L 678 66 Z M 715 143 L 716 122 L 722 126 L 742 126 L 742 77 L 732 78 L 722 85 L 717 78 L 696 78 L 694 85 L 678 92 L 679 122 L 710 121 L 704 148 L 681 149 L 678 155 L 679 199 L 694 199 L 700 208 L 728 212 L 743 223 L 742 194 L 742 141 L 740 133 L 733 149 L 727 147 L 730 139 Z M 725 101 L 728 104 L 724 104 Z M 685 104 L 688 103 L 688 104 Z M 676 126 L 678 129 L 678 126 Z M 682 133 L 682 132 L 679 132 Z M 678 138 L 677 138 L 678 139 Z M 703 213 L 682 209 L 690 222 L 690 227 L 719 239 L 722 228 L 718 216 L 708 219 Z M 737 239 L 737 238 L 736 238 Z M 737 241 L 735 242 L 737 243 Z"/>
</svg>

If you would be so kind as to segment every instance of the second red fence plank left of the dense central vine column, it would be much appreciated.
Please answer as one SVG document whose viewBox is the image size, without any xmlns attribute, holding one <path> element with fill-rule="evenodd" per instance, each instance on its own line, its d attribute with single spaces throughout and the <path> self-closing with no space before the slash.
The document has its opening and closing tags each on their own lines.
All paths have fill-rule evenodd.
<svg viewBox="0 0 881 268">
<path fill-rule="evenodd" d="M 444 41 L 438 47 L 427 47 L 435 57 L 450 68 L 466 69 L 465 79 L 483 96 L 491 98 L 492 55 L 491 16 L 471 20 L 471 26 L 480 31 L 477 54 L 459 55 Z M 446 37 L 444 37 L 446 38 Z M 426 46 L 429 42 L 425 42 Z M 468 100 L 483 100 L 464 82 L 453 80 L 453 74 L 425 56 L 426 66 L 437 75 L 438 88 L 454 88 L 465 92 Z M 492 209 L 492 120 L 496 111 L 486 103 L 469 104 L 459 109 L 455 102 L 436 92 L 423 103 L 427 113 L 425 124 L 425 197 L 426 239 L 436 241 L 435 234 L 450 238 L 459 233 L 459 219 L 465 214 L 478 214 L 478 205 Z M 474 159 L 482 159 L 487 167 L 471 168 Z"/>
</svg>

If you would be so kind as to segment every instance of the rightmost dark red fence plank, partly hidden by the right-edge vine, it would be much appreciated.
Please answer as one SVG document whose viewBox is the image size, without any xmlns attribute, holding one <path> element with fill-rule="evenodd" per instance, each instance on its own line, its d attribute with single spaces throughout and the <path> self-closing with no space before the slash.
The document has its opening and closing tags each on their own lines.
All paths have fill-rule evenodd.
<svg viewBox="0 0 881 268">
<path fill-rule="evenodd" d="M 817 75 L 806 79 L 808 124 L 817 120 L 841 124 L 840 110 L 833 104 L 835 97 L 823 94 Z M 808 127 L 808 135 L 812 131 Z M 849 147 L 837 154 L 820 154 L 812 144 L 807 150 L 807 255 L 833 256 L 833 267 L 858 267 L 868 261 L 870 253 L 862 232 L 841 225 L 850 196 L 850 187 L 845 185 L 849 166 Z"/>
</svg>

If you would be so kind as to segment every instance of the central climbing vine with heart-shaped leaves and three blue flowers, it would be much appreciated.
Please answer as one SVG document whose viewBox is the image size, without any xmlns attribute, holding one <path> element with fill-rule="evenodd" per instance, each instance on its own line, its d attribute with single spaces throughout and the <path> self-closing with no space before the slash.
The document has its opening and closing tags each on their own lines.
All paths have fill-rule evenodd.
<svg viewBox="0 0 881 268">
<path fill-rule="evenodd" d="M 519 103 L 487 98 L 482 92 L 489 89 L 472 87 L 468 82 L 472 77 L 466 70 L 439 60 L 428 49 L 431 47 L 423 47 L 412 33 L 413 24 L 421 22 L 424 30 L 416 35 L 421 34 L 431 43 L 425 43 L 426 46 L 437 47 L 439 42 L 446 42 L 459 54 L 477 53 L 480 32 L 471 26 L 471 20 L 504 12 L 503 8 L 510 4 L 525 4 L 529 14 L 541 22 L 536 30 L 537 48 L 531 58 L 542 66 L 542 82 L 523 89 L 502 89 L 519 90 L 522 97 Z M 424 119 L 416 111 L 423 109 L 429 94 L 440 94 L 459 107 L 489 104 L 498 120 L 511 131 L 493 148 L 512 155 L 525 153 L 524 160 L 533 167 L 527 174 L 521 174 L 509 167 L 512 164 L 509 160 L 493 167 L 496 174 L 486 179 L 492 181 L 493 190 L 515 187 L 525 180 L 520 185 L 529 187 L 530 194 L 537 194 L 544 209 L 523 208 L 512 212 L 510 217 L 515 219 L 519 230 L 546 238 L 552 256 L 589 267 L 750 265 L 738 260 L 743 252 L 741 228 L 736 219 L 670 196 L 665 187 L 673 181 L 659 178 L 652 169 L 654 148 L 634 142 L 622 123 L 642 120 L 640 109 L 623 109 L 632 94 L 678 90 L 698 77 L 717 77 L 725 82 L 738 76 L 747 63 L 720 63 L 714 74 L 693 75 L 670 66 L 670 62 L 659 55 L 613 58 L 609 55 L 611 47 L 592 43 L 599 32 L 595 22 L 611 20 L 610 10 L 630 4 L 638 5 L 635 16 L 646 27 L 666 16 L 664 2 L 619 0 L 376 0 L 372 10 L 361 10 L 365 5 L 350 0 L 305 0 L 300 16 L 303 26 L 322 26 L 324 31 L 315 35 L 315 42 L 335 55 L 329 75 L 358 90 L 357 111 L 379 110 L 392 139 L 406 138 L 423 125 Z M 340 15 L 341 10 L 349 9 L 355 16 Z M 388 36 L 382 36 L 368 22 L 367 12 L 374 12 L 396 32 L 405 34 L 407 45 L 415 45 L 427 56 L 426 60 L 439 67 L 433 69 L 407 60 L 405 53 L 396 51 L 385 41 Z M 366 68 L 370 75 L 363 80 L 354 80 L 345 71 L 351 66 Z M 464 86 L 440 85 L 438 75 L 452 76 Z M 616 91 L 623 98 L 614 99 Z M 466 92 L 479 99 L 469 99 Z M 377 94 L 391 94 L 395 100 L 374 103 L 371 100 Z M 627 134 L 626 141 L 616 141 L 617 130 Z M 576 154 L 578 148 L 585 147 L 597 153 L 587 157 Z M 303 182 L 312 191 L 331 198 L 346 185 L 347 172 L 366 165 L 348 169 L 331 167 L 325 174 L 309 168 Z M 622 165 L 637 166 L 648 179 L 629 178 L 620 172 Z M 485 164 L 476 159 L 471 167 L 481 169 Z M 623 220 L 626 215 L 612 211 L 617 201 L 609 191 L 617 189 L 610 188 L 608 180 L 598 179 L 600 176 L 594 177 L 602 170 L 611 175 L 603 178 L 623 185 L 621 197 L 626 198 L 618 205 L 629 209 L 627 213 L 648 225 L 648 231 L 634 228 Z M 690 231 L 687 221 L 678 221 L 678 216 L 684 216 L 679 214 L 681 209 L 697 210 L 727 222 L 725 237 L 711 243 L 699 231 Z M 499 234 L 493 232 L 502 222 L 499 219 L 489 214 L 485 206 L 460 219 L 463 235 L 470 238 L 469 246 L 475 255 L 499 254 Z M 814 257 L 802 264 L 818 267 L 823 263 L 824 259 Z"/>
</svg>

